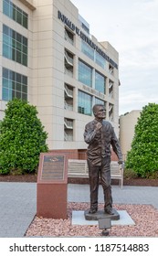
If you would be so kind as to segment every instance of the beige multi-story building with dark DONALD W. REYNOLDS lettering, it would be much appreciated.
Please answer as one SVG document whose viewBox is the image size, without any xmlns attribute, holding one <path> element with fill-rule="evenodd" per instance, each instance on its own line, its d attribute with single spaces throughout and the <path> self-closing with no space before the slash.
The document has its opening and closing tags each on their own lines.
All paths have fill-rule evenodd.
<svg viewBox="0 0 158 256">
<path fill-rule="evenodd" d="M 27 100 L 37 106 L 50 150 L 84 150 L 94 103 L 106 106 L 119 134 L 119 85 L 118 52 L 90 35 L 69 0 L 0 1 L 1 120 L 7 101 Z"/>
</svg>

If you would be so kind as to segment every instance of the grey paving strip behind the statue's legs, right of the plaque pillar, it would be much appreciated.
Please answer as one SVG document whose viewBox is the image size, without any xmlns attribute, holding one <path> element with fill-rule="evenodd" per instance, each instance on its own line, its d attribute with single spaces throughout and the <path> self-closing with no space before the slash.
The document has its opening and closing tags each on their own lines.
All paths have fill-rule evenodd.
<svg viewBox="0 0 158 256">
<path fill-rule="evenodd" d="M 119 186 L 112 186 L 113 203 L 118 204 L 150 204 L 158 208 L 158 187 L 134 187 L 124 186 L 122 189 Z M 89 185 L 68 186 L 68 201 L 69 202 L 89 202 L 90 187 Z M 103 202 L 103 192 L 100 186 L 99 201 Z"/>
</svg>

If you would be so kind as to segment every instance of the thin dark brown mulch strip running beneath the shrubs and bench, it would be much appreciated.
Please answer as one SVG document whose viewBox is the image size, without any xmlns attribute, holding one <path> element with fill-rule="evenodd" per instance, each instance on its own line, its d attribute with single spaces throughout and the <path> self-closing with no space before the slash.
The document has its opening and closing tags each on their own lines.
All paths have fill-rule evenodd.
<svg viewBox="0 0 158 256">
<path fill-rule="evenodd" d="M 37 175 L 3 176 L 0 182 L 37 182 Z M 68 183 L 89 184 L 88 178 L 68 178 Z M 118 180 L 112 180 L 112 185 L 118 185 Z M 124 186 L 149 186 L 158 187 L 158 179 L 130 178 L 123 180 Z"/>
</svg>

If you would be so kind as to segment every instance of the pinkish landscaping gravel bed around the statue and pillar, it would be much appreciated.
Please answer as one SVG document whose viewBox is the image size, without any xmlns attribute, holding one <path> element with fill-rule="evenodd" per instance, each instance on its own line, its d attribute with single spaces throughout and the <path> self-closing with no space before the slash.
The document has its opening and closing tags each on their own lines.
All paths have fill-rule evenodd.
<svg viewBox="0 0 158 256">
<path fill-rule="evenodd" d="M 98 225 L 72 225 L 72 211 L 90 208 L 89 203 L 68 203 L 68 219 L 33 219 L 26 237 L 100 237 Z M 99 205 L 103 208 L 103 204 Z M 158 237 L 158 210 L 151 205 L 113 205 L 126 210 L 135 225 L 112 226 L 110 237 Z"/>
</svg>

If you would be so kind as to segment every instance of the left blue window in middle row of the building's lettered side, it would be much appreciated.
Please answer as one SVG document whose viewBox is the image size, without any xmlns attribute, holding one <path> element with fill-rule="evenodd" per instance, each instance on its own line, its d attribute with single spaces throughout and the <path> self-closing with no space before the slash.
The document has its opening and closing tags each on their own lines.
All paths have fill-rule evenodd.
<svg viewBox="0 0 158 256">
<path fill-rule="evenodd" d="M 92 69 L 79 60 L 79 81 L 92 87 Z"/>
</svg>

